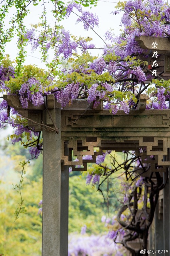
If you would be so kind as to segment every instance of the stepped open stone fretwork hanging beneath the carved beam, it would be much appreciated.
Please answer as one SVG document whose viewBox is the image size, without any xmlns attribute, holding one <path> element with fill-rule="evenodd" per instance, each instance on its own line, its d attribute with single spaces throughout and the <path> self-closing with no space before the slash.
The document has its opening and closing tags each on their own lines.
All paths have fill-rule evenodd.
<svg viewBox="0 0 170 256">
<path fill-rule="evenodd" d="M 115 140 L 113 140 L 115 139 Z M 65 154 L 64 143 L 67 142 L 67 148 L 70 154 Z M 109 145 L 107 147 L 107 145 Z M 132 148 L 133 145 L 133 148 Z M 94 148 L 100 148 L 99 152 L 95 152 Z M 151 172 L 165 172 L 166 166 L 170 165 L 170 161 L 164 161 L 164 156 L 168 155 L 170 148 L 170 138 L 167 137 L 131 137 L 124 139 L 119 138 L 99 138 L 99 137 L 71 137 L 62 138 L 62 160 L 64 165 L 82 166 L 82 168 L 73 168 L 73 170 L 87 170 L 88 162 L 96 162 L 96 155 L 101 155 L 103 150 L 134 150 L 138 156 L 141 156 L 142 163 L 150 163 Z M 145 148 L 146 152 L 141 152 L 140 148 Z M 77 157 L 77 161 L 72 160 L 73 156 Z M 83 156 L 92 156 L 91 160 L 83 159 Z M 154 158 L 151 156 L 154 155 Z"/>
</svg>

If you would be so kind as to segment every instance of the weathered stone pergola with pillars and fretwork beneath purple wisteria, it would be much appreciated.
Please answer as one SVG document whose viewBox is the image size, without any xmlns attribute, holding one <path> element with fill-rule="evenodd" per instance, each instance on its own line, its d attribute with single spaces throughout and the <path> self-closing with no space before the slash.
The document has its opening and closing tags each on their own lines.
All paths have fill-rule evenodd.
<svg viewBox="0 0 170 256">
<path fill-rule="evenodd" d="M 147 46 L 144 37 L 136 40 L 143 48 L 150 49 L 154 38 L 152 37 Z M 159 39 L 156 40 L 158 42 Z M 159 46 L 162 45 L 161 42 L 158 42 Z M 167 43 L 166 50 L 170 51 L 169 39 Z M 165 51 L 165 47 L 160 49 L 162 50 Z M 169 55 L 165 60 L 160 60 L 163 66 L 164 61 L 168 63 L 163 71 L 166 80 L 170 76 L 169 60 Z M 47 95 L 45 104 L 40 107 L 29 103 L 27 109 L 22 108 L 18 96 L 5 95 L 4 99 L 28 119 L 29 126 L 33 126 L 36 131 L 43 131 L 42 256 L 68 256 L 69 166 L 73 170 L 85 171 L 87 162 L 95 162 L 96 156 L 102 154 L 103 150 L 133 150 L 136 155 L 141 156 L 143 162 L 147 156 L 155 155 L 155 160 L 150 159 L 151 168 L 148 172 L 164 173 L 170 165 L 170 109 L 146 110 L 146 95 L 140 95 L 138 108 L 130 110 L 129 115 L 123 111 L 113 115 L 108 110 L 103 110 L 102 103 L 94 110 L 86 100 L 75 100 L 73 104 L 62 109 L 54 95 Z M 94 152 L 94 147 L 98 147 L 99 151 Z M 141 147 L 146 148 L 146 153 L 140 153 Z M 92 155 L 92 160 L 83 160 L 83 155 Z M 73 161 L 73 156 L 78 161 Z M 81 165 L 82 168 L 75 168 L 75 165 Z M 160 166 L 159 169 L 157 165 Z M 159 247 L 164 244 L 164 248 L 169 250 L 168 185 L 165 193 L 164 222 L 158 223 L 156 217 L 158 224 L 155 228 L 159 231 L 162 228 L 164 236 L 157 236 L 155 243 Z"/>
</svg>

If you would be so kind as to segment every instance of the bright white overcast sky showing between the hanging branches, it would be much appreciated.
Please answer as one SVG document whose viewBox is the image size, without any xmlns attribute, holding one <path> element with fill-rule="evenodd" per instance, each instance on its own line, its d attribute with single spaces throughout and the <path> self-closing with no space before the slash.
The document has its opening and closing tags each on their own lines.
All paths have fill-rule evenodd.
<svg viewBox="0 0 170 256">
<path fill-rule="evenodd" d="M 91 9 L 84 8 L 85 10 L 89 10 L 98 15 L 99 28 L 95 27 L 94 29 L 98 34 L 100 34 L 100 36 L 102 38 L 104 38 L 104 33 L 110 28 L 114 29 L 114 33 L 116 35 L 119 34 L 119 31 L 120 31 L 119 25 L 120 25 L 121 15 L 110 14 L 112 11 L 115 10 L 115 6 L 116 6 L 117 2 L 118 2 L 118 0 L 116 0 L 115 2 L 103 0 L 103 1 L 98 1 L 98 4 L 96 7 L 92 6 Z M 51 27 L 53 27 L 55 24 L 55 20 L 50 12 L 50 10 L 51 10 L 50 4 L 51 3 L 47 4 L 47 7 L 49 8 L 48 22 L 50 23 Z M 41 7 L 42 6 L 38 5 L 38 6 L 34 6 L 34 7 L 30 8 L 31 13 L 28 15 L 28 17 L 26 17 L 27 26 L 29 25 L 30 28 L 31 28 L 31 24 L 37 24 L 39 22 L 39 16 L 41 15 Z M 10 18 L 11 18 L 11 13 L 9 13 L 8 19 L 10 19 Z M 94 40 L 93 43 L 95 43 L 95 45 L 97 47 L 103 47 L 103 45 L 104 45 L 103 41 L 93 31 L 90 31 L 90 30 L 85 31 L 82 23 L 75 25 L 77 18 L 78 17 L 72 13 L 68 19 L 65 19 L 62 22 L 62 25 L 65 27 L 66 30 L 69 30 L 72 34 L 74 34 L 78 37 L 79 36 L 92 37 Z M 16 54 L 18 52 L 16 44 L 17 44 L 17 38 L 14 38 L 10 43 L 7 44 L 7 47 L 6 47 L 6 54 L 9 54 L 10 58 L 12 60 L 15 60 Z M 99 51 L 96 52 L 96 50 L 94 52 L 92 52 L 92 51 L 93 50 L 90 50 L 90 52 L 94 53 L 94 55 L 99 53 Z M 35 64 L 40 68 L 45 68 L 45 65 L 43 63 L 41 63 L 41 60 L 40 60 L 41 55 L 38 51 L 36 51 L 32 54 L 30 51 L 30 47 L 28 47 L 27 54 L 28 54 L 28 56 L 27 56 L 25 65 Z M 52 56 L 51 56 L 51 60 L 52 60 Z M 49 61 L 50 61 L 50 57 L 49 57 Z"/>
</svg>

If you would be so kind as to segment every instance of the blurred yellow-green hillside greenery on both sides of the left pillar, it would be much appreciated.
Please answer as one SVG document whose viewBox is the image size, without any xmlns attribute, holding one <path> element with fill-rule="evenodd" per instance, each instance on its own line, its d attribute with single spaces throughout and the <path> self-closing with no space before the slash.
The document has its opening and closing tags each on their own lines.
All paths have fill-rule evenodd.
<svg viewBox="0 0 170 256">
<path fill-rule="evenodd" d="M 12 145 L 1 139 L 0 143 L 0 254 L 6 256 L 40 256 L 42 216 L 38 214 L 42 199 L 42 155 L 26 166 L 22 187 L 22 197 L 26 213 L 21 213 L 15 221 L 15 211 L 20 196 L 14 186 L 19 183 L 21 167 L 18 163 L 30 158 L 29 152 L 17 143 Z M 108 159 L 107 159 L 108 161 Z M 92 167 L 91 167 L 92 168 Z M 108 184 L 103 184 L 107 190 Z M 118 184 L 114 184 L 118 188 Z M 110 190 L 109 190 L 110 191 Z M 109 192 L 110 193 L 110 192 Z M 86 172 L 72 172 L 69 179 L 69 233 L 80 233 L 86 225 L 87 233 L 106 233 L 101 222 L 103 215 L 115 215 L 119 203 L 116 195 L 107 195 L 104 202 L 96 186 L 86 185 Z M 109 208 L 108 208 L 109 206 Z"/>
</svg>

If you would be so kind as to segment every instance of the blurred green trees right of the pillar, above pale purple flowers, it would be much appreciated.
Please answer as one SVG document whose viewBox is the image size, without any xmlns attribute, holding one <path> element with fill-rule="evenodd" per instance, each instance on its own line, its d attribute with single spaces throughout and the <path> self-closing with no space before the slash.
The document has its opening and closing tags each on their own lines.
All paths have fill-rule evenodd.
<svg viewBox="0 0 170 256">
<path fill-rule="evenodd" d="M 101 222 L 101 217 L 107 214 L 106 204 L 96 187 L 85 184 L 82 176 L 69 179 L 69 233 L 80 232 L 86 225 L 88 233 L 99 234 L 107 230 Z"/>
</svg>

